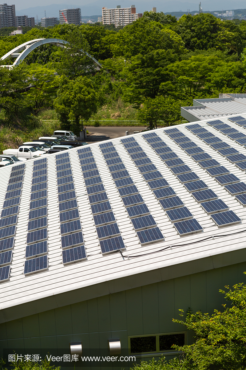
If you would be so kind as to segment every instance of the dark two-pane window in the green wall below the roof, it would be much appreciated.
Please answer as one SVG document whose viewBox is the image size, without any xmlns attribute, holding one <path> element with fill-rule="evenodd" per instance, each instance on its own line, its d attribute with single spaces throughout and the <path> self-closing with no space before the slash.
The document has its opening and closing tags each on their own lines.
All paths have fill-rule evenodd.
<svg viewBox="0 0 246 370">
<path fill-rule="evenodd" d="M 173 344 L 184 346 L 186 332 L 162 333 L 129 337 L 129 352 L 135 354 L 175 351 Z"/>
</svg>

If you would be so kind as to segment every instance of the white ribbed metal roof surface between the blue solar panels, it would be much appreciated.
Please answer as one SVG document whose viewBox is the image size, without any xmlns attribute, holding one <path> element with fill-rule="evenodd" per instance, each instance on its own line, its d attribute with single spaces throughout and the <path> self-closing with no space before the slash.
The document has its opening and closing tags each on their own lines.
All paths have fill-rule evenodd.
<svg viewBox="0 0 246 370">
<path fill-rule="evenodd" d="M 246 118 L 246 113 L 242 114 L 242 116 Z M 222 118 L 222 121 L 230 125 L 230 127 L 237 129 L 239 132 L 246 133 L 245 128 L 240 127 L 236 123 L 230 122 L 227 118 Z M 209 126 L 206 122 L 207 121 L 199 121 L 198 123 L 202 127 L 205 127 L 209 132 L 212 132 L 216 137 L 221 138 L 222 141 L 228 143 L 230 147 L 237 149 L 242 154 L 246 154 L 244 146 L 239 145 L 235 140 L 230 139 L 214 127 Z M 194 122 L 192 124 L 194 124 Z M 174 127 L 178 128 L 186 135 L 186 137 L 190 138 L 199 147 L 204 149 L 205 153 L 211 155 L 211 157 L 218 161 L 222 166 L 225 166 L 231 174 L 236 175 L 241 182 L 246 183 L 245 171 L 239 169 L 238 166 L 231 163 L 226 159 L 226 157 L 223 157 L 186 128 L 192 124 L 181 124 Z M 30 159 L 25 162 L 20 208 L 14 236 L 13 258 L 10 265 L 10 278 L 0 283 L 1 310 L 43 297 L 68 292 L 80 287 L 95 285 L 100 282 L 118 279 L 120 277 L 135 275 L 165 266 L 176 265 L 207 256 L 218 255 L 224 252 L 245 248 L 246 232 L 237 233 L 246 229 L 245 208 L 235 199 L 235 196 L 231 195 L 224 186 L 221 186 L 205 169 L 202 169 L 201 166 L 190 157 L 190 155 L 186 154 L 186 152 L 165 133 L 168 129 L 169 128 L 162 128 L 153 132 L 163 139 L 163 141 L 169 145 L 178 157 L 181 158 L 185 164 L 188 165 L 192 171 L 194 171 L 195 174 L 197 174 L 199 178 L 208 185 L 209 189 L 214 191 L 218 198 L 228 205 L 230 211 L 235 212 L 242 221 L 235 225 L 218 227 L 211 219 L 211 215 L 208 215 L 204 211 L 200 203 L 194 199 L 184 185 L 180 183 L 176 175 L 173 174 L 171 169 L 164 164 L 159 155 L 157 155 L 150 147 L 148 142 L 146 142 L 142 137 L 142 133 L 131 135 L 141 145 L 152 163 L 163 175 L 164 179 L 166 179 L 171 188 L 173 188 L 176 194 L 183 201 L 184 205 L 193 214 L 193 218 L 196 219 L 203 228 L 202 232 L 180 236 L 174 228 L 173 223 L 171 223 L 167 217 L 166 212 L 163 210 L 159 201 L 155 198 L 155 195 L 149 188 L 147 182 L 136 168 L 127 150 L 121 143 L 122 138 L 112 139 L 111 142 L 114 144 L 119 156 L 127 168 L 127 171 L 129 172 L 129 175 L 138 188 L 146 206 L 149 208 L 150 214 L 155 219 L 157 227 L 165 237 L 165 239 L 160 242 L 141 245 L 136 235 L 136 231 L 133 228 L 131 219 L 126 212 L 122 199 L 115 187 L 103 154 L 99 148 L 100 142 L 97 142 L 95 144 L 91 144 L 90 148 L 124 241 L 125 250 L 123 250 L 122 253 L 124 256 L 129 256 L 130 258 L 122 258 L 118 251 L 110 254 L 101 253 L 96 226 L 94 225 L 91 206 L 78 157 L 78 150 L 80 148 L 87 148 L 85 146 L 69 149 L 65 151 L 65 153 L 69 153 L 87 259 L 70 265 L 63 265 L 56 176 L 56 154 L 43 155 L 44 158 L 47 158 L 48 172 L 48 269 L 33 275 L 24 275 L 32 171 L 34 166 L 34 160 Z M 146 132 L 143 134 L 145 133 Z M 107 142 L 110 142 L 110 140 L 103 141 L 103 143 Z M 12 166 L 8 166 L 0 170 L 2 189 L 0 195 L 0 209 L 3 207 L 5 200 L 11 169 Z M 236 234 L 227 236 L 230 233 Z M 209 236 L 218 235 L 223 236 L 200 242 L 200 240 L 208 238 Z M 188 243 L 193 242 L 197 243 L 187 245 Z M 157 252 L 160 249 L 169 247 L 170 245 L 173 246 L 172 249 L 168 248 L 162 252 Z M 156 253 L 145 255 L 146 253 L 155 251 Z M 131 256 L 136 255 L 141 256 L 131 258 Z"/>
</svg>

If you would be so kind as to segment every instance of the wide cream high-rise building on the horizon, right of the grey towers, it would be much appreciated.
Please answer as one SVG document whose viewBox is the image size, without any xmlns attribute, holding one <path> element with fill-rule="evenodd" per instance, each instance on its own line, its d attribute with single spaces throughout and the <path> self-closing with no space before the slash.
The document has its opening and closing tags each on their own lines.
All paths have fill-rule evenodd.
<svg viewBox="0 0 246 370">
<path fill-rule="evenodd" d="M 126 26 L 135 20 L 142 18 L 142 13 L 136 13 L 135 5 L 130 8 L 121 8 L 117 5 L 115 9 L 102 8 L 103 24 L 115 24 L 115 27 Z"/>
</svg>

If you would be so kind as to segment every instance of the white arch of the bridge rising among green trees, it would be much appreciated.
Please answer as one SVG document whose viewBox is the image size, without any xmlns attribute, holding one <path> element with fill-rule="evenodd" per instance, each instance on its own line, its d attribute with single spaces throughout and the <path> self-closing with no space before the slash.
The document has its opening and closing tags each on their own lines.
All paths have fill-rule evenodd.
<svg viewBox="0 0 246 370">
<path fill-rule="evenodd" d="M 14 49 L 10 50 L 7 54 L 3 55 L 3 57 L 0 58 L 1 61 L 7 58 L 16 58 L 16 59 L 13 64 L 1 65 L 1 67 L 6 67 L 8 69 L 14 68 L 16 65 L 20 64 L 25 59 L 25 57 L 27 57 L 27 55 L 31 53 L 31 51 L 45 44 L 65 47 L 65 44 L 69 45 L 69 42 L 65 40 L 60 40 L 59 38 L 36 38 L 35 40 L 27 41 L 24 44 L 21 44 L 15 47 Z M 93 60 L 98 70 L 102 68 L 102 65 L 98 62 L 98 60 L 93 58 L 90 54 L 88 53 L 86 54 Z"/>
</svg>

